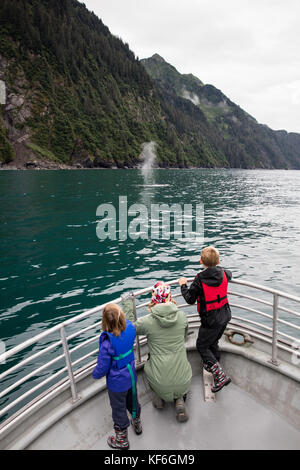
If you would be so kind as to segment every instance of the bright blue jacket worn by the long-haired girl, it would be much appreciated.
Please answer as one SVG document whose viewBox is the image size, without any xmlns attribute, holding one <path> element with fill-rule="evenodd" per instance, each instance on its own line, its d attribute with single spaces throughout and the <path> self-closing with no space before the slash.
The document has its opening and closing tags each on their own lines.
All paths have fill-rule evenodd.
<svg viewBox="0 0 300 470">
<path fill-rule="evenodd" d="M 128 361 L 122 360 L 121 364 L 120 361 L 113 359 L 120 353 L 125 353 L 133 348 L 135 336 L 135 328 L 129 320 L 126 320 L 126 329 L 122 331 L 120 336 L 114 336 L 107 331 L 103 331 L 100 335 L 99 355 L 92 376 L 94 379 L 101 379 L 106 375 L 107 388 L 112 392 L 125 392 L 132 387 L 127 366 L 119 368 L 119 365 L 123 365 L 124 362 L 130 363 L 135 382 L 137 381 L 133 354 L 128 355 Z"/>
</svg>

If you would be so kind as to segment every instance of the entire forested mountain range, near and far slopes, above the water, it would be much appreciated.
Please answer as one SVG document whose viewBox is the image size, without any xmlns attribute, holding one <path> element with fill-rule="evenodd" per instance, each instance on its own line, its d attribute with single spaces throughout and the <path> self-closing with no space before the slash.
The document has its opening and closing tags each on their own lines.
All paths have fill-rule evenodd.
<svg viewBox="0 0 300 470">
<path fill-rule="evenodd" d="M 139 60 L 76 0 L 1 0 L 0 162 L 18 168 L 300 168 L 272 131 L 158 54 Z M 3 93 L 5 90 L 5 93 Z"/>
</svg>

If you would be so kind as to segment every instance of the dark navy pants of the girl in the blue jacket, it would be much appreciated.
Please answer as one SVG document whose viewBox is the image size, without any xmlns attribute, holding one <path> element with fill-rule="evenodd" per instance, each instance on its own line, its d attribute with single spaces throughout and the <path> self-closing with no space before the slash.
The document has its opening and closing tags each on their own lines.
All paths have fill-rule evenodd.
<svg viewBox="0 0 300 470">
<path fill-rule="evenodd" d="M 125 429 L 130 426 L 126 410 L 132 414 L 132 388 L 126 392 L 112 392 L 108 390 L 110 406 L 112 408 L 112 418 L 115 427 Z M 141 407 L 137 398 L 136 416 L 141 414 Z"/>
</svg>

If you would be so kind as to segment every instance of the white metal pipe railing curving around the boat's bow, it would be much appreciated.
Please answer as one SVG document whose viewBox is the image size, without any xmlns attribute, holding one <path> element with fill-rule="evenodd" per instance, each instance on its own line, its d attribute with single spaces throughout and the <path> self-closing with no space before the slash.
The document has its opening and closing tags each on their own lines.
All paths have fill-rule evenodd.
<svg viewBox="0 0 300 470">
<path fill-rule="evenodd" d="M 191 282 L 192 279 L 189 279 L 188 282 Z M 178 281 L 174 280 L 169 282 L 170 285 L 178 285 Z M 290 302 L 290 303 L 297 303 L 300 304 L 300 298 L 296 297 L 294 295 L 287 294 L 285 292 L 281 292 L 276 289 L 272 289 L 269 287 L 261 286 L 258 284 L 253 284 L 251 282 L 246 282 L 246 281 L 241 281 L 241 280 L 231 280 L 230 284 L 236 285 L 236 286 L 242 286 L 243 288 L 247 289 L 246 293 L 240 293 L 240 292 L 232 292 L 231 290 L 228 291 L 228 294 L 230 296 L 230 306 L 232 307 L 232 310 L 235 311 L 235 309 L 242 310 L 242 311 L 247 311 L 249 312 L 252 316 L 250 318 L 242 317 L 240 315 L 235 315 L 234 312 L 232 314 L 232 320 L 229 324 L 230 328 L 236 328 L 237 330 L 240 329 L 240 331 L 243 331 L 244 333 L 249 333 L 251 334 L 252 337 L 256 337 L 258 339 L 261 339 L 265 341 L 266 343 L 269 343 L 272 346 L 271 349 L 271 354 L 270 354 L 270 362 L 277 366 L 279 364 L 278 361 L 278 351 L 284 350 L 288 353 L 295 354 L 295 345 L 296 347 L 296 353 L 297 349 L 299 350 L 300 345 L 300 313 L 294 311 L 293 309 L 287 308 L 286 306 L 281 306 L 279 305 L 279 299 L 285 299 L 285 302 Z M 254 297 L 252 295 L 248 294 L 249 289 L 254 289 L 255 291 L 260 291 L 260 292 L 266 292 L 268 294 L 271 294 L 272 296 L 272 301 L 267 301 L 264 299 L 260 299 L 257 297 Z M 139 298 L 140 296 L 143 296 L 149 292 L 151 292 L 152 287 L 147 287 L 145 289 L 141 289 L 139 291 L 133 292 L 133 301 L 134 301 L 134 315 L 135 318 L 137 318 L 137 312 L 138 310 L 141 310 L 145 308 L 148 303 L 149 299 L 147 302 L 142 302 L 140 304 L 136 303 L 136 299 Z M 180 297 L 181 294 L 177 293 L 173 295 L 173 298 Z M 236 304 L 233 302 L 231 299 L 231 296 L 237 296 L 240 299 L 245 299 L 248 302 L 250 301 L 251 306 L 249 305 L 242 305 L 242 304 Z M 122 301 L 121 297 L 118 297 L 111 302 L 113 303 L 120 303 Z M 43 331 L 42 333 L 24 341 L 22 344 L 19 344 L 9 351 L 6 351 L 2 355 L 0 355 L 0 364 L 6 363 L 8 360 L 18 360 L 18 354 L 25 349 L 29 348 L 30 346 L 36 345 L 39 343 L 41 340 L 49 337 L 49 335 L 56 334 L 58 336 L 58 340 L 55 340 L 50 344 L 49 346 L 43 347 L 43 349 L 25 357 L 24 359 L 21 359 L 18 361 L 16 364 L 13 366 L 7 368 L 4 372 L 0 374 L 0 382 L 2 385 L 5 385 L 6 380 L 10 377 L 10 385 L 6 386 L 3 390 L 0 391 L 0 399 L 3 397 L 6 397 L 6 401 L 9 401 L 9 403 L 6 406 L 3 406 L 0 409 L 0 420 L 1 417 L 4 417 L 4 421 L 0 424 L 0 430 L 3 426 L 5 426 L 6 421 L 10 420 L 11 417 L 9 416 L 11 410 L 15 409 L 15 413 L 19 414 L 22 412 L 23 408 L 28 408 L 30 406 L 30 396 L 35 395 L 37 392 L 42 393 L 43 396 L 45 396 L 45 393 L 47 393 L 47 386 L 50 382 L 57 383 L 60 379 L 60 376 L 62 374 L 65 374 L 65 380 L 67 381 L 68 386 L 71 389 L 71 394 L 72 394 L 72 401 L 76 402 L 79 400 L 79 394 L 77 391 L 77 386 L 76 386 L 76 366 L 78 366 L 80 363 L 85 361 L 86 359 L 93 358 L 93 364 L 95 363 L 96 360 L 96 355 L 98 353 L 98 345 L 96 348 L 92 348 L 92 350 L 89 350 L 86 354 L 83 354 L 79 356 L 76 360 L 71 359 L 71 356 L 74 354 L 74 352 L 79 351 L 81 348 L 84 348 L 86 346 L 90 346 L 92 343 L 97 342 L 99 338 L 99 330 L 101 328 L 101 319 L 100 319 L 100 314 L 104 307 L 111 302 L 107 302 L 103 305 L 100 305 L 99 307 L 95 307 L 93 309 L 87 310 L 86 312 L 81 313 L 80 315 L 77 315 L 71 319 L 68 319 L 56 326 L 53 326 L 52 328 L 47 329 L 46 331 Z M 257 308 L 253 308 L 252 303 L 259 303 L 263 308 L 271 308 L 270 313 L 266 313 L 264 311 L 258 310 Z M 180 308 L 187 308 L 191 307 L 188 304 L 183 304 L 179 305 Z M 194 307 L 195 308 L 195 307 Z M 279 318 L 279 311 L 284 312 L 285 314 L 289 315 L 289 318 L 283 319 Z M 77 322 L 81 322 L 82 320 L 87 320 L 90 321 L 91 318 L 94 318 L 94 316 L 98 316 L 98 318 L 95 319 L 95 321 L 84 327 L 81 328 L 79 331 L 76 331 L 72 334 L 69 334 L 67 336 L 66 334 L 66 328 L 70 325 L 74 325 Z M 254 316 L 260 316 L 264 319 L 267 319 L 267 322 L 269 322 L 270 326 L 267 325 L 267 323 L 261 323 L 260 321 L 257 321 Z M 291 318 L 296 318 L 296 323 L 292 323 L 290 321 Z M 188 315 L 190 323 L 199 323 L 199 316 L 198 314 L 192 314 Z M 285 327 L 288 327 L 291 329 L 293 334 L 287 334 L 286 332 L 283 332 L 278 329 L 279 325 L 285 325 Z M 92 330 L 95 330 L 93 332 Z M 295 333 L 294 333 L 295 332 Z M 297 335 L 298 332 L 298 335 Z M 90 335 L 88 339 L 85 340 L 80 340 L 80 343 L 77 344 L 76 346 L 73 346 L 72 340 L 74 338 L 78 338 L 78 336 L 83 335 L 86 333 Z M 24 369 L 25 366 L 28 364 L 36 364 L 39 363 L 41 360 L 42 356 L 47 355 L 50 352 L 53 352 L 56 348 L 62 348 L 62 352 L 54 357 L 53 359 L 49 360 L 48 362 L 41 363 L 39 367 L 35 368 L 34 370 L 31 370 L 28 374 L 23 376 L 22 378 L 15 380 L 14 377 L 15 374 L 18 370 Z M 140 349 L 140 340 L 139 337 L 137 337 L 136 341 L 136 352 L 137 352 L 137 362 L 141 362 L 141 349 Z M 60 361 L 64 361 L 64 364 L 62 367 L 59 368 L 59 370 L 55 370 L 54 366 L 57 365 Z M 38 384 L 35 386 L 30 387 L 30 381 L 34 377 L 42 377 L 44 371 L 51 369 L 51 372 L 48 372 L 48 376 L 46 379 L 41 380 Z M 25 370 L 25 369 L 24 369 Z M 22 386 L 24 386 L 25 383 L 29 383 L 29 387 L 26 390 L 22 390 Z M 19 388 L 21 387 L 21 388 Z M 51 386 L 53 388 L 53 384 Z M 17 398 L 14 398 L 12 400 L 9 400 L 9 394 L 13 392 L 14 390 L 18 389 L 19 396 Z M 32 399 L 32 398 L 31 398 Z M 38 399 L 38 397 L 36 397 Z M 20 406 L 21 402 L 24 402 L 25 400 L 25 405 L 23 404 Z M 5 417 L 5 415 L 7 415 Z M 3 419 L 3 418 L 2 418 Z"/>
</svg>

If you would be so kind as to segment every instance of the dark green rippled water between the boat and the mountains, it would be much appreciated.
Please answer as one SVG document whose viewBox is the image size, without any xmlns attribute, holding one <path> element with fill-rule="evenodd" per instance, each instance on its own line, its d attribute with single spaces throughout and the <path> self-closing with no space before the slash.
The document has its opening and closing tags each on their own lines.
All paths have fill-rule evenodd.
<svg viewBox="0 0 300 470">
<path fill-rule="evenodd" d="M 234 278 L 300 295 L 299 171 L 2 171 L 0 343 L 7 350 L 129 289 L 151 286 L 158 279 L 193 277 L 199 271 L 202 243 L 180 241 L 172 234 L 170 239 L 121 241 L 118 232 L 116 240 L 100 240 L 97 207 L 109 203 L 118 214 L 120 196 L 127 197 L 128 207 L 203 204 L 203 244 L 219 249 L 221 264 Z M 128 217 L 128 223 L 132 219 Z M 189 309 L 195 311 L 194 306 Z M 272 327 L 264 317 L 240 309 L 233 313 Z M 281 318 L 290 320 L 283 312 Z M 80 326 L 94 321 L 87 318 Z M 296 324 L 300 326 L 299 318 Z M 297 335 L 285 325 L 280 328 Z M 72 328 L 67 333 L 71 332 Z M 96 338 L 98 330 L 81 340 L 92 335 Z M 0 364 L 0 373 L 58 339 L 57 334 L 49 337 Z M 57 351 L 12 373 L 3 386 L 56 357 Z M 55 370 L 63 365 L 57 363 Z M 0 407 L 49 374 L 51 370 L 44 371 L 19 386 L 0 400 Z"/>
</svg>

